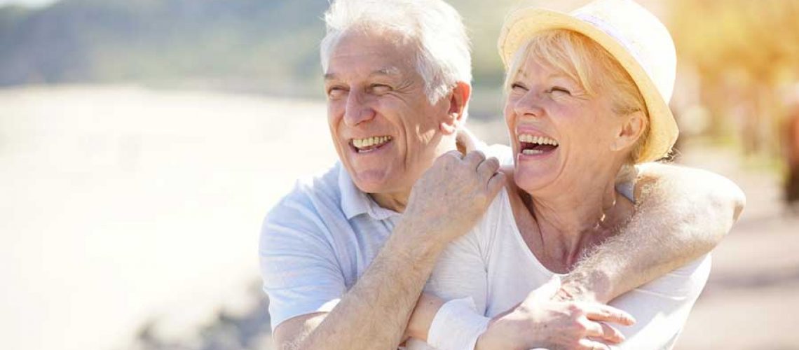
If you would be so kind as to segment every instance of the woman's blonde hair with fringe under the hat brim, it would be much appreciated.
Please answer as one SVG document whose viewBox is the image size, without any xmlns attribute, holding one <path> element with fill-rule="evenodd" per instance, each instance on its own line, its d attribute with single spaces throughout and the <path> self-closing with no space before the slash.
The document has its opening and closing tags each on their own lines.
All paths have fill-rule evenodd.
<svg viewBox="0 0 799 350">
<path fill-rule="evenodd" d="M 646 116 L 646 128 L 630 151 L 629 163 L 635 163 L 646 146 L 650 129 L 649 113 L 633 78 L 606 49 L 571 30 L 552 29 L 537 33 L 511 60 L 505 76 L 506 93 L 528 59 L 562 71 L 582 85 L 591 96 L 597 96 L 598 92 L 610 93 L 613 112 L 619 116 L 642 112 Z"/>
</svg>

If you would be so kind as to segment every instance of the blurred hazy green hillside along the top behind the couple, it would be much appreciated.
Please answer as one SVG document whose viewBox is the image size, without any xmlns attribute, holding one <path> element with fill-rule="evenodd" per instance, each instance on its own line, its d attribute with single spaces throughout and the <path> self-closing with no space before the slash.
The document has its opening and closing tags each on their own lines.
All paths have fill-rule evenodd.
<svg viewBox="0 0 799 350">
<path fill-rule="evenodd" d="M 535 3 L 449 1 L 463 15 L 474 61 L 473 116 L 501 110 L 495 41 L 504 16 Z M 318 45 L 328 0 L 62 0 L 0 7 L 0 87 L 135 83 L 321 97 Z"/>
</svg>

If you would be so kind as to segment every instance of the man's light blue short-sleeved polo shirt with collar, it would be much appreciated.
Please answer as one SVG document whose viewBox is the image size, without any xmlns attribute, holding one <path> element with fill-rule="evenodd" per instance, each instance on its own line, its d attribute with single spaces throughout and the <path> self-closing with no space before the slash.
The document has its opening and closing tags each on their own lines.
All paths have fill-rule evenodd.
<svg viewBox="0 0 799 350">
<path fill-rule="evenodd" d="M 358 190 L 341 163 L 298 181 L 267 214 L 260 234 L 272 331 L 289 318 L 331 311 L 400 217 Z"/>
</svg>

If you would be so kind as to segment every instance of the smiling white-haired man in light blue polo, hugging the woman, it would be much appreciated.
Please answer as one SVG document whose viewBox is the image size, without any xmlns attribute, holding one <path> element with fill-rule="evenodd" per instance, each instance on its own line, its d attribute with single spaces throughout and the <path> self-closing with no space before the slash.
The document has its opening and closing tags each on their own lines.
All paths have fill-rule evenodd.
<svg viewBox="0 0 799 350">
<path fill-rule="evenodd" d="M 325 21 L 321 60 L 340 163 L 298 183 L 264 220 L 273 338 L 278 348 L 397 348 L 439 253 L 475 226 L 505 179 L 495 158 L 455 151 L 471 61 L 451 6 L 339 0 Z M 501 148 L 483 151 L 507 158 Z M 636 249 L 596 251 L 565 277 L 555 302 L 626 322 L 588 301 L 706 254 L 743 205 L 737 187 L 702 171 L 652 165 L 638 186 L 649 188 L 641 210 L 651 219 L 622 233 Z"/>
</svg>

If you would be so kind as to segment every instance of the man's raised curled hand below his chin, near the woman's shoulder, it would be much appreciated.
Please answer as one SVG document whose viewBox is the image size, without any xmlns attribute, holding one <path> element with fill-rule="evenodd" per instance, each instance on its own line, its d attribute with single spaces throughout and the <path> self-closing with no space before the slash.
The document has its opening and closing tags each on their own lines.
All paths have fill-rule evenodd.
<svg viewBox="0 0 799 350">
<path fill-rule="evenodd" d="M 435 159 L 415 183 L 404 213 L 424 225 L 411 232 L 442 246 L 471 230 L 505 184 L 497 159 L 486 159 L 481 151 L 461 157 L 459 151 L 449 151 Z"/>
</svg>

